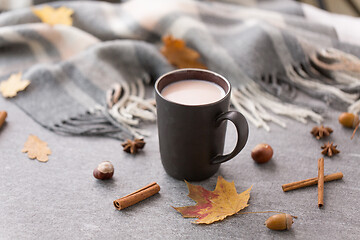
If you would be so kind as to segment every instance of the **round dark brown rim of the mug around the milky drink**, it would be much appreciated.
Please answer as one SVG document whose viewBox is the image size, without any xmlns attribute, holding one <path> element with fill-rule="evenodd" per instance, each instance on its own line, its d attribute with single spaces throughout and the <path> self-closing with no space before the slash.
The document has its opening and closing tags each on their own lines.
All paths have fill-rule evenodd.
<svg viewBox="0 0 360 240">
<path fill-rule="evenodd" d="M 222 98 L 220 98 L 219 100 L 215 101 L 215 102 L 210 102 L 210 103 L 205 103 L 205 104 L 197 104 L 197 105 L 187 105 L 187 104 L 182 104 L 182 103 L 178 103 L 178 102 L 173 102 L 173 101 L 170 101 L 170 100 L 166 99 L 163 95 L 161 95 L 161 92 L 159 91 L 158 86 L 159 86 L 159 82 L 161 82 L 162 79 L 164 79 L 168 75 L 176 74 L 178 72 L 186 72 L 186 71 L 190 71 L 190 72 L 206 72 L 206 73 L 212 74 L 212 75 L 220 78 L 221 80 L 223 80 L 226 83 L 226 85 L 228 87 L 228 89 L 226 91 L 222 86 L 220 86 L 224 90 L 225 95 Z M 186 80 L 186 79 L 184 79 L 184 80 Z M 207 81 L 207 80 L 203 80 L 203 81 Z M 211 82 L 211 81 L 209 81 L 209 82 Z M 215 83 L 215 84 L 217 84 L 217 83 Z M 217 85 L 219 85 L 219 84 L 217 84 Z M 216 73 L 216 72 L 213 72 L 213 71 L 210 71 L 210 70 L 207 70 L 207 69 L 201 69 L 201 68 L 181 68 L 181 69 L 172 70 L 170 72 L 167 72 L 167 73 L 164 73 L 163 75 L 161 75 L 155 82 L 155 92 L 164 101 L 175 104 L 175 105 L 184 106 L 184 107 L 204 107 L 204 106 L 216 105 L 219 102 L 224 101 L 224 99 L 226 99 L 231 93 L 231 85 L 230 85 L 230 82 L 225 77 L 220 75 L 219 73 Z"/>
</svg>

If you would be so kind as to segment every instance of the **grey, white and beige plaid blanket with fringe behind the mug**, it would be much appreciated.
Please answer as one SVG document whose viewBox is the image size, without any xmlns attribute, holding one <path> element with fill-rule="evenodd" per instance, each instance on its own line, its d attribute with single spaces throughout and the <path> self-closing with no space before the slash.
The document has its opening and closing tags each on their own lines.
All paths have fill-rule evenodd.
<svg viewBox="0 0 360 240">
<path fill-rule="evenodd" d="M 360 111 L 360 45 L 345 37 L 359 36 L 358 19 L 292 1 L 47 5 L 73 9 L 73 26 L 41 23 L 31 7 L 0 14 L 0 81 L 22 71 L 31 84 L 9 101 L 52 131 L 118 139 L 146 135 L 139 124 L 154 121 L 156 111 L 144 84 L 173 69 L 159 51 L 168 34 L 185 40 L 210 70 L 229 79 L 232 106 L 257 127 L 269 130 L 270 121 L 285 126 L 278 115 L 321 122 L 311 106 L 291 103 L 298 91 L 330 107 Z"/>
</svg>

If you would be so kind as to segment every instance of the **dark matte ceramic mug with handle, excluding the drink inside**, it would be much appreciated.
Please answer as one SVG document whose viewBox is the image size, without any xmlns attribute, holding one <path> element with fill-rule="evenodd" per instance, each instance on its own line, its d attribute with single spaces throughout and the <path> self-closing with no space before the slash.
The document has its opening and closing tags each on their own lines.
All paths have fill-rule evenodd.
<svg viewBox="0 0 360 240">
<path fill-rule="evenodd" d="M 225 91 L 225 96 L 208 104 L 184 105 L 161 95 L 169 84 L 190 79 L 215 83 Z M 244 148 L 248 123 L 241 113 L 229 111 L 231 86 L 221 75 L 202 69 L 175 70 L 156 81 L 155 91 L 161 161 L 170 176 L 189 181 L 209 178 L 220 163 Z M 234 123 L 238 139 L 235 149 L 223 155 L 226 120 Z"/>
</svg>

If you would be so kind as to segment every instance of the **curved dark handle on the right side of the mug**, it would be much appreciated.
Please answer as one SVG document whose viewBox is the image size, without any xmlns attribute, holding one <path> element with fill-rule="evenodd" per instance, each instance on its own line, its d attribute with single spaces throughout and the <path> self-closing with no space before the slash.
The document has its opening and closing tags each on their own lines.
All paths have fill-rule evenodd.
<svg viewBox="0 0 360 240">
<path fill-rule="evenodd" d="M 226 162 L 233 157 L 235 157 L 244 147 L 248 139 L 249 135 L 249 126 L 245 119 L 245 117 L 237 112 L 237 111 L 228 111 L 225 113 L 222 113 L 217 119 L 216 119 L 216 127 L 220 126 L 220 124 L 225 121 L 230 120 L 234 123 L 238 135 L 237 143 L 234 148 L 234 150 L 226 155 L 217 155 L 211 160 L 211 164 L 219 164 Z"/>
</svg>

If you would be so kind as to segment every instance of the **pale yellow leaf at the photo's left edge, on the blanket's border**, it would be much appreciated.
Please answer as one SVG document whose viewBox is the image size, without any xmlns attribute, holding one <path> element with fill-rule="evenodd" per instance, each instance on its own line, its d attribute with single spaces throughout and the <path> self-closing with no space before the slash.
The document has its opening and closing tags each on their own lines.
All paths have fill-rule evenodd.
<svg viewBox="0 0 360 240">
<path fill-rule="evenodd" d="M 21 80 L 22 73 L 11 74 L 11 76 L 0 83 L 0 92 L 3 97 L 11 98 L 15 97 L 20 91 L 25 90 L 29 86 L 29 80 Z"/>
</svg>

